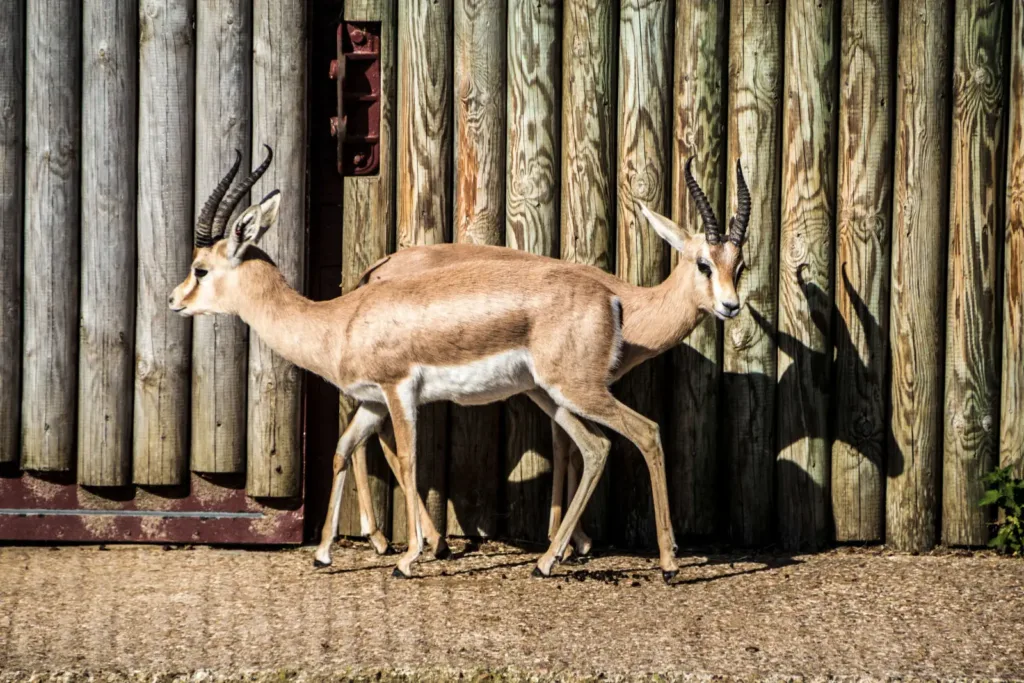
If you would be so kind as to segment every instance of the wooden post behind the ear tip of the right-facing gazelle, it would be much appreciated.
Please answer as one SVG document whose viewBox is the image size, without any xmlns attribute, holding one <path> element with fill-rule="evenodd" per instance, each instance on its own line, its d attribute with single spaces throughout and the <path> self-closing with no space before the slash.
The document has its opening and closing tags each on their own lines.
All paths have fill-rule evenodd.
<svg viewBox="0 0 1024 683">
<path fill-rule="evenodd" d="M 616 274 L 653 287 L 669 271 L 669 247 L 640 212 L 668 213 L 672 167 L 672 3 L 624 0 L 618 32 L 618 242 Z M 616 387 L 621 400 L 660 422 L 664 358 L 634 370 Z M 650 475 L 636 447 L 615 438 L 612 504 L 627 546 L 655 543 Z"/>
</svg>

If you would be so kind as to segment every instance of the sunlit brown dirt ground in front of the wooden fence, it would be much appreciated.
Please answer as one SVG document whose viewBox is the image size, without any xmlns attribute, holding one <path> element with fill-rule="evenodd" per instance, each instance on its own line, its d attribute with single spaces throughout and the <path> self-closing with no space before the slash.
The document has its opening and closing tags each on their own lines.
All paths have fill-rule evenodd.
<svg viewBox="0 0 1024 683">
<path fill-rule="evenodd" d="M 420 577 L 338 548 L 0 548 L 0 683 L 22 680 L 1024 679 L 1024 561 L 604 555 L 534 579 L 484 544 Z"/>
</svg>

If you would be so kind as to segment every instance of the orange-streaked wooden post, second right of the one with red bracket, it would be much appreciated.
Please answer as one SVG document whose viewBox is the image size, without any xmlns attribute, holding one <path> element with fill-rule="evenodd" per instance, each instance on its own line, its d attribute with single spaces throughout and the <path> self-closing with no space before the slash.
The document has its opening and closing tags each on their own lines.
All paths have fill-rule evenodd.
<svg viewBox="0 0 1024 683">
<path fill-rule="evenodd" d="M 455 3 L 455 241 L 505 244 L 505 2 Z M 452 408 L 447 532 L 497 532 L 498 403 Z"/>
</svg>

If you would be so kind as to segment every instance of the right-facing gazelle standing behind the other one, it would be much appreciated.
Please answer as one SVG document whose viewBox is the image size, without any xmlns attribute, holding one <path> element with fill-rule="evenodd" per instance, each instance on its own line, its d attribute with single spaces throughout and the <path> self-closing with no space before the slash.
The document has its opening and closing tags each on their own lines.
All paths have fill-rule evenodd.
<svg viewBox="0 0 1024 683">
<path fill-rule="evenodd" d="M 705 193 L 693 178 L 691 162 L 684 167 L 684 177 L 690 196 L 703 220 L 703 247 L 700 241 L 692 237 L 685 239 L 685 244 L 668 240 L 684 255 L 692 257 L 681 259 L 682 270 L 677 269 L 662 286 L 645 289 L 632 286 L 618 278 L 599 268 L 584 265 L 573 265 L 557 261 L 565 268 L 572 268 L 593 278 L 616 295 L 623 304 L 623 317 L 626 321 L 623 330 L 624 353 L 618 368 L 612 373 L 612 381 L 618 380 L 627 372 L 644 360 L 658 355 L 681 342 L 700 322 L 701 316 L 712 312 L 719 317 L 732 317 L 738 312 L 738 300 L 735 298 L 735 284 L 744 268 L 741 246 L 745 239 L 746 225 L 750 220 L 751 199 L 743 178 L 742 168 L 736 163 L 737 210 L 730 220 L 729 232 L 721 234 L 718 220 L 711 208 Z M 660 227 L 659 234 L 678 234 L 681 228 L 668 218 L 644 209 L 644 213 L 653 225 Z M 727 247 L 731 245 L 731 247 Z M 359 286 L 371 283 L 382 283 L 410 275 L 422 274 L 426 271 L 443 269 L 457 263 L 469 261 L 512 263 L 550 263 L 553 259 L 537 256 L 527 252 L 500 247 L 484 247 L 474 245 L 433 245 L 428 247 L 411 247 L 395 254 L 386 256 L 370 266 L 364 272 Z M 694 272 L 695 264 L 695 272 Z M 687 269 L 688 268 L 688 269 Z M 438 276 L 440 276 L 438 274 Z M 682 306 L 667 305 L 669 302 L 686 302 Z M 733 307 L 735 306 L 735 307 Z M 655 323 L 657 321 L 658 323 Z M 636 322 L 636 324 L 633 324 Z M 353 418 L 353 423 L 358 418 Z M 381 445 L 388 464 L 395 469 L 393 437 L 388 432 L 388 423 L 382 423 Z M 552 477 L 552 503 L 550 515 L 549 539 L 553 539 L 561 522 L 562 488 L 565 475 L 568 475 L 568 499 L 573 498 L 579 471 L 570 458 L 570 440 L 568 435 L 556 422 L 552 422 L 554 445 L 554 471 Z M 360 434 L 361 435 L 361 434 Z M 367 434 L 369 436 L 369 434 Z M 338 458 L 347 459 L 358 442 L 352 438 L 343 437 L 339 441 Z M 379 530 L 371 505 L 369 480 L 364 454 L 356 453 L 352 458 L 352 469 L 355 474 L 355 485 L 358 496 L 359 515 L 362 522 L 362 532 L 370 538 L 371 544 L 379 554 L 388 551 L 387 540 Z M 579 457 L 573 450 L 571 455 Z M 397 477 L 397 471 L 395 476 Z M 321 535 L 321 545 L 316 551 L 316 561 L 319 564 L 330 563 L 330 547 L 335 537 L 338 517 L 341 509 L 341 492 L 336 488 L 331 497 L 331 509 L 325 520 Z M 420 502 L 420 518 L 428 543 L 435 549 L 435 555 L 446 552 L 443 536 L 434 528 L 426 509 Z M 580 526 L 572 531 L 572 540 L 577 549 L 586 554 L 590 540 Z"/>
</svg>

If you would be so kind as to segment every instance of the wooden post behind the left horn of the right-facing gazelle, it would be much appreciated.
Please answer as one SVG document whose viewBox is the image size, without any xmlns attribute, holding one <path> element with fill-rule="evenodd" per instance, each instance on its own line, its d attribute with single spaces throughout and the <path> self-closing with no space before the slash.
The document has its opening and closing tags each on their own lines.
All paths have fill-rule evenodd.
<svg viewBox="0 0 1024 683">
<path fill-rule="evenodd" d="M 683 181 L 683 166 L 691 156 L 693 173 L 719 221 L 723 226 L 728 223 L 723 125 L 728 67 L 725 9 L 724 1 L 676 3 L 672 218 L 693 234 L 699 234 L 703 227 Z M 673 265 L 678 258 L 679 253 L 673 250 Z M 714 533 L 718 509 L 723 507 L 719 505 L 723 496 L 717 481 L 718 330 L 715 317 L 707 316 L 671 355 L 672 409 L 666 461 L 673 522 L 680 535 Z"/>
</svg>

